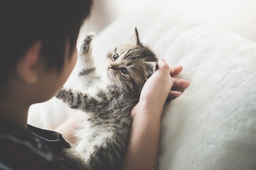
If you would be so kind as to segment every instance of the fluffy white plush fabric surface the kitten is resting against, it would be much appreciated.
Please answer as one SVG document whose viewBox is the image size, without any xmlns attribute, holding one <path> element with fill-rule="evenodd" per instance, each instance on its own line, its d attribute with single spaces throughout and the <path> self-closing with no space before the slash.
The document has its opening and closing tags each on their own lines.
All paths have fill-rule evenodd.
<svg viewBox="0 0 256 170">
<path fill-rule="evenodd" d="M 165 4 L 148 4 L 105 28 L 92 44 L 99 73 L 106 53 L 136 25 L 142 43 L 170 65 L 184 66 L 179 76 L 191 82 L 163 112 L 159 169 L 256 169 L 256 44 L 171 11 Z M 29 114 L 35 126 L 39 108 Z M 46 122 L 55 126 L 69 113 L 58 112 L 59 119 L 52 120 L 53 112 L 47 112 Z"/>
</svg>

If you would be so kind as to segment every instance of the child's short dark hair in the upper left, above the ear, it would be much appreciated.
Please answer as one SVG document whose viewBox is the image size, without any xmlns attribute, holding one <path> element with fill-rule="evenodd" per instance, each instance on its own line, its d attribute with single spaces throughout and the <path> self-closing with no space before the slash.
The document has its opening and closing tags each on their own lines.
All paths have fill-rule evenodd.
<svg viewBox="0 0 256 170">
<path fill-rule="evenodd" d="M 73 53 L 92 0 L 4 0 L 0 4 L 0 91 L 26 50 L 42 43 L 40 56 L 48 70 L 63 67 L 69 45 Z"/>
</svg>

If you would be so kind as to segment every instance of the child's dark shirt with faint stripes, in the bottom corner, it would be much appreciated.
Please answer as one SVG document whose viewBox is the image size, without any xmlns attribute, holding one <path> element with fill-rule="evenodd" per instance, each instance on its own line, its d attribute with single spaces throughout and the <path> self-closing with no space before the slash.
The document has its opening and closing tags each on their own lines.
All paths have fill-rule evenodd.
<svg viewBox="0 0 256 170">
<path fill-rule="evenodd" d="M 60 133 L 0 119 L 1 170 L 72 170 L 60 154 L 69 147 Z"/>
</svg>

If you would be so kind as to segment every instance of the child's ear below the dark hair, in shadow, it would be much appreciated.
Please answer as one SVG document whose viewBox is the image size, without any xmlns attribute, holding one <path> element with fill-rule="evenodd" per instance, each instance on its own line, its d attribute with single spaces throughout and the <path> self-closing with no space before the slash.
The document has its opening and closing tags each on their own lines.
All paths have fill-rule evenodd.
<svg viewBox="0 0 256 170">
<path fill-rule="evenodd" d="M 17 63 L 18 76 L 26 83 L 37 81 L 36 65 L 39 60 L 41 43 L 35 42 Z"/>
</svg>

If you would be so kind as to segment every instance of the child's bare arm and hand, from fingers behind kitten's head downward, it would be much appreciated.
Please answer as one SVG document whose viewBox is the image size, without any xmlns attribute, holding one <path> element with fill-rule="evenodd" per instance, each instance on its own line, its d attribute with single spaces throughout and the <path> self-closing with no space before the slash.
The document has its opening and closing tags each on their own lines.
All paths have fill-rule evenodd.
<svg viewBox="0 0 256 170">
<path fill-rule="evenodd" d="M 187 80 L 174 78 L 182 67 L 170 67 L 159 61 L 158 70 L 144 84 L 139 103 L 133 107 L 133 118 L 127 153 L 122 170 L 157 170 L 160 119 L 163 105 L 169 95 L 176 98 L 181 92 L 170 92 L 172 86 L 185 88 Z"/>
</svg>

